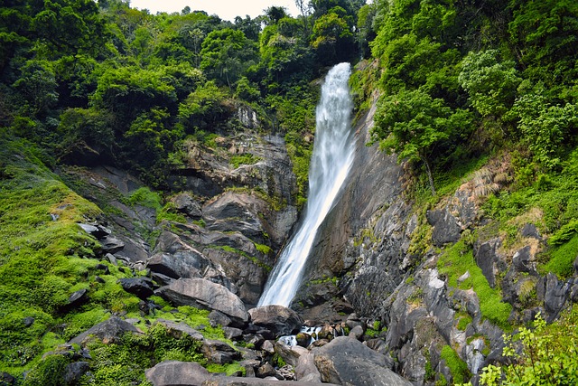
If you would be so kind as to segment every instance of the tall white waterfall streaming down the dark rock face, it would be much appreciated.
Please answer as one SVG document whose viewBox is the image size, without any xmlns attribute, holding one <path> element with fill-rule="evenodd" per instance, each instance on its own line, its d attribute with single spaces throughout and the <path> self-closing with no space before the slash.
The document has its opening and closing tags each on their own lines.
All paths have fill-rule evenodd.
<svg viewBox="0 0 578 386">
<path fill-rule="evenodd" d="M 257 306 L 289 306 L 301 282 L 317 230 L 350 171 L 354 156 L 350 72 L 350 63 L 340 63 L 329 71 L 323 83 L 322 99 L 316 111 L 309 197 L 303 223 L 281 252 Z"/>
</svg>

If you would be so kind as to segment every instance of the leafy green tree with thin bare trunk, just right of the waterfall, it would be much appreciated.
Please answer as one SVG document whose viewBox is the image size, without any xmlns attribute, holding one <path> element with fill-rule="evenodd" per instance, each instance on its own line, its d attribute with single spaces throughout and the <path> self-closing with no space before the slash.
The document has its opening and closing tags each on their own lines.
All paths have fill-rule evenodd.
<svg viewBox="0 0 578 386">
<path fill-rule="evenodd" d="M 398 162 L 407 159 L 425 165 L 432 194 L 432 164 L 436 150 L 444 142 L 457 143 L 471 125 L 467 110 L 447 107 L 443 99 L 433 99 L 423 90 L 401 89 L 378 103 L 372 129 L 374 142 L 388 153 L 396 153 Z"/>
</svg>

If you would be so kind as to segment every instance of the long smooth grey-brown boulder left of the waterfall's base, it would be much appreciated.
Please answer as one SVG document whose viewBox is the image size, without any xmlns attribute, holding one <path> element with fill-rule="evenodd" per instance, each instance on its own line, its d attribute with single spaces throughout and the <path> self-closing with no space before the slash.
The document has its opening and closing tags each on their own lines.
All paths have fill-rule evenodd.
<svg viewBox="0 0 578 386">
<path fill-rule="evenodd" d="M 245 305 L 227 287 L 203 278 L 180 278 L 155 291 L 176 306 L 195 306 L 217 310 L 227 315 L 234 325 L 247 325 Z"/>
</svg>

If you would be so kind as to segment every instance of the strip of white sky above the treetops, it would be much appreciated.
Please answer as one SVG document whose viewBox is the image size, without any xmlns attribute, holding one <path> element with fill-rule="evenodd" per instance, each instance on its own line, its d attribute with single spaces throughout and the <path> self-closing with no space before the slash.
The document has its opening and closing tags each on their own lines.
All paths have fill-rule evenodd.
<svg viewBox="0 0 578 386">
<path fill-rule="evenodd" d="M 251 18 L 265 14 L 263 10 L 275 6 L 284 6 L 288 14 L 299 15 L 294 0 L 130 0 L 130 6 L 138 9 L 148 9 L 151 14 L 157 12 L 181 12 L 189 5 L 192 11 L 205 11 L 207 14 L 217 14 L 223 20 L 234 21 L 235 16 Z"/>
</svg>

